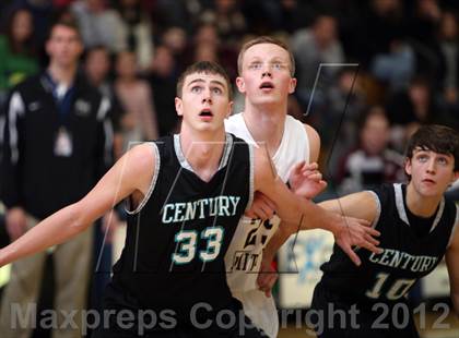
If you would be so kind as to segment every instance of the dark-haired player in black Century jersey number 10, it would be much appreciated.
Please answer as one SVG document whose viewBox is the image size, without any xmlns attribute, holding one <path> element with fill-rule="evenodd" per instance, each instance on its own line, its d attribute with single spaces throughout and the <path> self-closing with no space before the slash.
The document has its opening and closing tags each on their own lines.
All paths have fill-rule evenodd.
<svg viewBox="0 0 459 338">
<path fill-rule="evenodd" d="M 313 298 L 319 338 L 419 337 L 405 295 L 444 255 L 459 316 L 459 210 L 444 198 L 459 178 L 458 133 L 422 126 L 409 142 L 405 171 L 408 185 L 387 184 L 320 204 L 367 219 L 381 233 L 382 253 L 357 250 L 363 262 L 357 267 L 334 245 Z M 266 259 L 274 249 L 271 243 Z"/>
</svg>

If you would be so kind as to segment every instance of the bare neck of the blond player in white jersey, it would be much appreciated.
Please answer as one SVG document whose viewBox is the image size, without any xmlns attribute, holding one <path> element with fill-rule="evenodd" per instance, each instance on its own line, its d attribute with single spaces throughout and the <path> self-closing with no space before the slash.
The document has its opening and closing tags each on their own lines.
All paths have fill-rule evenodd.
<svg viewBox="0 0 459 338">
<path fill-rule="evenodd" d="M 269 107 L 247 105 L 243 116 L 254 140 L 259 144 L 264 143 L 269 154 L 273 156 L 284 135 L 286 108 L 271 110 Z"/>
</svg>

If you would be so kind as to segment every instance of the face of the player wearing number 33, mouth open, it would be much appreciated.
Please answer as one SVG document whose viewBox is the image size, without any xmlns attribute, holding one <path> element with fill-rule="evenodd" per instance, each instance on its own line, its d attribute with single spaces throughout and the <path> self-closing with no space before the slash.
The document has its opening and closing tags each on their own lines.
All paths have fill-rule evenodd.
<svg viewBox="0 0 459 338">
<path fill-rule="evenodd" d="M 232 105 L 225 79 L 211 73 L 186 76 L 181 98 L 175 99 L 177 113 L 184 117 L 183 124 L 197 131 L 223 130 L 223 120 L 229 116 Z"/>
</svg>

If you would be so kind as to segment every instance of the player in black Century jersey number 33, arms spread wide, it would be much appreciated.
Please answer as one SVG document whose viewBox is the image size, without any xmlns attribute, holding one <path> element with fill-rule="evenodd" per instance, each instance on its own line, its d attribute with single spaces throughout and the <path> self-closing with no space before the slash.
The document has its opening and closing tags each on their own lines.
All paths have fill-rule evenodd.
<svg viewBox="0 0 459 338">
<path fill-rule="evenodd" d="M 325 229 L 343 229 L 349 245 L 345 226 L 351 224 L 360 242 L 374 248 L 365 239 L 377 231 L 367 221 L 344 219 L 295 197 L 264 152 L 225 134 L 231 85 L 220 65 L 191 65 L 177 96 L 184 118 L 179 135 L 133 147 L 84 198 L 0 251 L 1 266 L 63 242 L 127 198 L 126 244 L 95 337 L 259 337 L 257 329 L 242 327 L 246 318 L 224 267 L 225 251 L 256 190 L 276 204 L 283 219 L 298 224 L 307 214 Z M 225 315 L 234 321 L 223 321 Z"/>
</svg>

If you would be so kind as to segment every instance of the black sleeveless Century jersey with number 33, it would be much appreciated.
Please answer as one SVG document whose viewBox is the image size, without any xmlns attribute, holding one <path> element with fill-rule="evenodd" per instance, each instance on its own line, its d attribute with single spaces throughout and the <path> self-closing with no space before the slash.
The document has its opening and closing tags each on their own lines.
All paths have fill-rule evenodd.
<svg viewBox="0 0 459 338">
<path fill-rule="evenodd" d="M 251 149 L 227 134 L 209 182 L 187 162 L 178 135 L 152 143 L 152 152 L 156 171 L 148 196 L 129 212 L 113 286 L 138 309 L 179 315 L 200 302 L 213 310 L 231 307 L 223 258 L 252 198 Z"/>
</svg>

